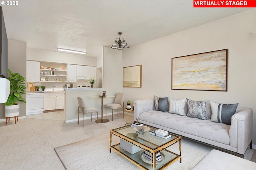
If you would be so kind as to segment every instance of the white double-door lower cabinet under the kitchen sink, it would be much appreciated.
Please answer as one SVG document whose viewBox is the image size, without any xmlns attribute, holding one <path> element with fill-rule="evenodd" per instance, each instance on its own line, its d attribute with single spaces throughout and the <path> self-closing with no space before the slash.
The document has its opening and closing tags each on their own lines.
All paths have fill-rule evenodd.
<svg viewBox="0 0 256 170">
<path fill-rule="evenodd" d="M 44 93 L 44 110 L 64 109 L 65 99 L 64 92 L 45 92 Z"/>
</svg>

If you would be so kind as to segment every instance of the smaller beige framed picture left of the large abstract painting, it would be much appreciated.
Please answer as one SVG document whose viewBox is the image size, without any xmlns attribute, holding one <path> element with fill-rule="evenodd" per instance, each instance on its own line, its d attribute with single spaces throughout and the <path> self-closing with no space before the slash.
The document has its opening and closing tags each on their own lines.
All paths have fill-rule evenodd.
<svg viewBox="0 0 256 170">
<path fill-rule="evenodd" d="M 142 85 L 142 65 L 123 67 L 123 87 L 139 87 Z"/>
</svg>

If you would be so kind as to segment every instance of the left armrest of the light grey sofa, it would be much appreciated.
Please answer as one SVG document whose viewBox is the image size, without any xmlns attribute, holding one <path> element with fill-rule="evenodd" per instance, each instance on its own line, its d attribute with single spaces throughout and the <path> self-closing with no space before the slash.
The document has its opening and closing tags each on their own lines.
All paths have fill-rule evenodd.
<svg viewBox="0 0 256 170">
<path fill-rule="evenodd" d="M 134 121 L 139 117 L 140 113 L 154 110 L 154 99 L 135 100 L 134 101 Z"/>
</svg>

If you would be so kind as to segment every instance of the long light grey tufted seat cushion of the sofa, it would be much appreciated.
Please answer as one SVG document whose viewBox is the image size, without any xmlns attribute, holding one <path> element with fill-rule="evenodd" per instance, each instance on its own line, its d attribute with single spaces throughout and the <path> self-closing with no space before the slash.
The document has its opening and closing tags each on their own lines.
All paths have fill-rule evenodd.
<svg viewBox="0 0 256 170">
<path fill-rule="evenodd" d="M 210 120 L 202 120 L 156 110 L 140 113 L 139 121 L 140 120 L 226 145 L 230 143 L 230 125 L 224 123 L 216 123 Z"/>
</svg>

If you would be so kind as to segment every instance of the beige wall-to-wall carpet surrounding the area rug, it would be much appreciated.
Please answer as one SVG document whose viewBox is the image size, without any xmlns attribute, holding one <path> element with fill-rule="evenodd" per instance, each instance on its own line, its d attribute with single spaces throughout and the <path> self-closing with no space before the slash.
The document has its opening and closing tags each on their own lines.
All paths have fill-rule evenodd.
<svg viewBox="0 0 256 170">
<path fill-rule="evenodd" d="M 112 119 L 112 115 L 107 118 Z M 90 119 L 85 120 L 84 127 L 82 127 L 82 121 L 78 125 L 77 121 L 64 123 L 64 121 L 33 118 L 19 119 L 17 124 L 14 123 L 14 119 L 11 119 L 7 125 L 5 121 L 0 122 L 0 170 L 65 170 L 54 148 L 109 134 L 110 129 L 124 126 L 126 123 L 126 117 L 122 119 L 122 114 L 118 114 L 118 117 L 114 115 L 114 121 L 108 123 L 97 125 L 95 120 L 93 119 L 92 122 Z M 132 121 L 133 115 L 129 115 L 127 122 Z M 108 154 L 109 145 L 108 141 L 106 145 Z M 184 147 L 182 148 L 183 154 L 185 150 Z M 120 160 L 126 160 L 121 155 L 118 154 L 118 156 Z M 140 169 L 130 161 L 126 161 L 128 166 Z M 97 164 L 101 160 L 94 158 L 93 162 L 95 165 L 93 169 L 98 170 Z M 173 166 L 180 166 L 183 163 L 183 160 L 182 164 L 175 162 Z M 176 170 L 175 167 L 173 169 Z"/>
</svg>

